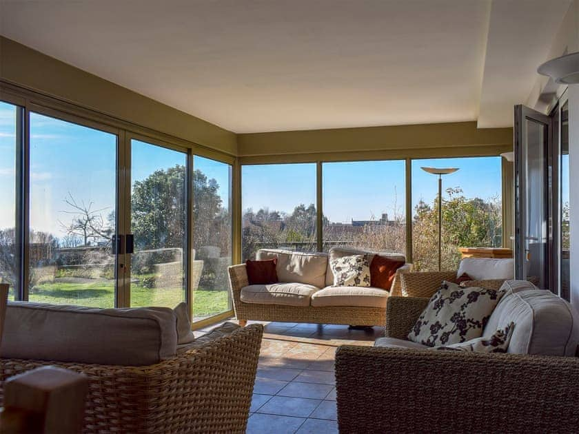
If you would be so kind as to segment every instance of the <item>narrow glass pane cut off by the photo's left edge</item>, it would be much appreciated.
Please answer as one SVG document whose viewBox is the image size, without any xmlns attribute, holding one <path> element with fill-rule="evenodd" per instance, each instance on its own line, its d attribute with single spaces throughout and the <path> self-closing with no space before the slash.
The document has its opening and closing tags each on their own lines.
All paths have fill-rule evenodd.
<svg viewBox="0 0 579 434">
<path fill-rule="evenodd" d="M 8 298 L 19 287 L 16 244 L 17 121 L 22 109 L 0 101 L 0 282 L 10 285 Z"/>
</svg>

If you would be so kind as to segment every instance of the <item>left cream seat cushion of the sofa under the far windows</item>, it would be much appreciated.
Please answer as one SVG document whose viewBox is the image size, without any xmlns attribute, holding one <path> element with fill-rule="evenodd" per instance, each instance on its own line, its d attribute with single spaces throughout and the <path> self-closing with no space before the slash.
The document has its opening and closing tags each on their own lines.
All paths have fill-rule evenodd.
<svg viewBox="0 0 579 434">
<path fill-rule="evenodd" d="M 241 301 L 244 303 L 307 307 L 309 306 L 309 298 L 319 290 L 314 285 L 298 282 L 249 285 L 241 288 Z"/>
</svg>

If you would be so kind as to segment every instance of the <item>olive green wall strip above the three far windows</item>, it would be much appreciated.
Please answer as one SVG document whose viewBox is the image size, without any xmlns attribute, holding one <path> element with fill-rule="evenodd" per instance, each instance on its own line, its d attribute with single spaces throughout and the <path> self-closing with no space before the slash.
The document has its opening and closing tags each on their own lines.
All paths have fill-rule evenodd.
<svg viewBox="0 0 579 434">
<path fill-rule="evenodd" d="M 513 148 L 512 128 L 476 122 L 238 134 L 243 163 L 263 161 L 498 155 Z"/>
</svg>

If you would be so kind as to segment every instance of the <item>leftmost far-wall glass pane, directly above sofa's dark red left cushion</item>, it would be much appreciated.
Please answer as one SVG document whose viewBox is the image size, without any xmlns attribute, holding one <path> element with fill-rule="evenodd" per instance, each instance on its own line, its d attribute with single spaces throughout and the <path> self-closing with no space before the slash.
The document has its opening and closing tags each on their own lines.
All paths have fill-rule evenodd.
<svg viewBox="0 0 579 434">
<path fill-rule="evenodd" d="M 316 251 L 316 165 L 241 168 L 243 260 L 258 249 Z"/>
</svg>

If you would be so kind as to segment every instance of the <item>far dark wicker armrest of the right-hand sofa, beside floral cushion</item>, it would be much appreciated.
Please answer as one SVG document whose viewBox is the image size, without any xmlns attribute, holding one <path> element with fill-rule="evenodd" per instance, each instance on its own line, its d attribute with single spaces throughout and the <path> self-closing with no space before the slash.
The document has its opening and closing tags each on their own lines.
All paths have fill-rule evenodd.
<svg viewBox="0 0 579 434">
<path fill-rule="evenodd" d="M 388 297 L 385 335 L 389 338 L 406 339 L 428 302 L 428 298 Z"/>
</svg>

